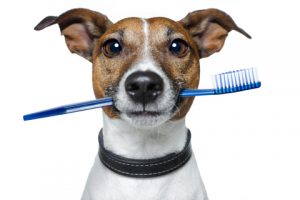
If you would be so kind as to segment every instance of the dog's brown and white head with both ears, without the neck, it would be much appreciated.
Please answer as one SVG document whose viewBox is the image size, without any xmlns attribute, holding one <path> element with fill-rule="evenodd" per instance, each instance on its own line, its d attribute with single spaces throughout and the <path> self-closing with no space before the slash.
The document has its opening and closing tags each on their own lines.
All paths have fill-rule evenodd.
<svg viewBox="0 0 300 200">
<path fill-rule="evenodd" d="M 93 63 L 96 97 L 113 97 L 114 106 L 104 112 L 138 127 L 184 117 L 193 98 L 178 94 L 198 87 L 199 59 L 220 51 L 231 30 L 250 38 L 217 9 L 195 11 L 177 22 L 157 17 L 115 24 L 101 13 L 73 9 L 46 17 L 35 29 L 53 24 L 72 53 Z"/>
</svg>

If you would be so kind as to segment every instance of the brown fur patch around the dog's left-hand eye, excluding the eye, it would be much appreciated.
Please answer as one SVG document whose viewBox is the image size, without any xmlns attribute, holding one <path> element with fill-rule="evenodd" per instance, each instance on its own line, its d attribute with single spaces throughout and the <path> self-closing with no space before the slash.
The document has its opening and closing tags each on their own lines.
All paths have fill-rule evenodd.
<svg viewBox="0 0 300 200">
<path fill-rule="evenodd" d="M 120 42 L 123 50 L 120 55 L 108 58 L 103 54 L 102 46 L 112 38 Z M 93 87 L 97 98 L 106 96 L 107 90 L 116 86 L 126 70 L 141 56 L 143 45 L 143 22 L 138 18 L 117 22 L 98 40 L 93 53 Z M 109 117 L 118 117 L 112 107 L 103 110 Z"/>
</svg>

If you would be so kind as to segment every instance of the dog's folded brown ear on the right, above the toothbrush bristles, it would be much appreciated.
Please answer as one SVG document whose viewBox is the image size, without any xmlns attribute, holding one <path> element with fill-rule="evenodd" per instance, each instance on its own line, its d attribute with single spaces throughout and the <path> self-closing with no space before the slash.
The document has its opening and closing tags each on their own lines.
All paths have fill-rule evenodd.
<svg viewBox="0 0 300 200">
<path fill-rule="evenodd" d="M 195 40 L 200 58 L 219 52 L 231 30 L 238 31 L 251 39 L 251 36 L 239 28 L 229 15 L 218 9 L 191 12 L 179 23 Z"/>
</svg>

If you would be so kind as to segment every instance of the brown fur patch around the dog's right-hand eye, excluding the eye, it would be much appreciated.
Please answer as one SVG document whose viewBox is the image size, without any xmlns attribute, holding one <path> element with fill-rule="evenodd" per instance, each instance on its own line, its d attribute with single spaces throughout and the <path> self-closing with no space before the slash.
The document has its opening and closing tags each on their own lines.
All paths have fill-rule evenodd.
<svg viewBox="0 0 300 200">
<path fill-rule="evenodd" d="M 167 18 L 151 18 L 149 22 L 149 35 L 152 56 L 174 81 L 176 88 L 198 88 L 200 79 L 200 64 L 196 44 L 190 34 L 177 22 Z M 172 30 L 172 31 L 169 31 Z M 168 47 L 174 39 L 180 38 L 189 45 L 189 53 L 178 58 L 168 51 Z M 173 119 L 184 117 L 194 98 L 185 98 Z"/>
</svg>

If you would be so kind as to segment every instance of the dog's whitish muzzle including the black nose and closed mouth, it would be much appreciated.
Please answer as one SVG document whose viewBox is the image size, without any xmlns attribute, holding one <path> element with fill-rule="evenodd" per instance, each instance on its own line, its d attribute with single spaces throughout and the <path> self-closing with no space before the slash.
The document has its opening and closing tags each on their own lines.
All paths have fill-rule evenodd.
<svg viewBox="0 0 300 200">
<path fill-rule="evenodd" d="M 136 127 L 158 126 L 169 120 L 177 95 L 171 80 L 158 70 L 127 71 L 114 95 L 121 119 Z"/>
</svg>

